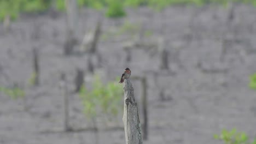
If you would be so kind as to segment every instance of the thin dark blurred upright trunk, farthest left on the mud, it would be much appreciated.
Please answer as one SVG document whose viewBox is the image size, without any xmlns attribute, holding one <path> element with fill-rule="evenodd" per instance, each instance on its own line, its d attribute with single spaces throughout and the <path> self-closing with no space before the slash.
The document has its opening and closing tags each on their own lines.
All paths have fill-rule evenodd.
<svg viewBox="0 0 256 144">
<path fill-rule="evenodd" d="M 38 64 L 38 50 L 37 47 L 33 47 L 33 67 L 34 67 L 34 71 L 33 71 L 33 85 L 34 86 L 38 86 L 39 85 L 39 64 Z"/>
</svg>

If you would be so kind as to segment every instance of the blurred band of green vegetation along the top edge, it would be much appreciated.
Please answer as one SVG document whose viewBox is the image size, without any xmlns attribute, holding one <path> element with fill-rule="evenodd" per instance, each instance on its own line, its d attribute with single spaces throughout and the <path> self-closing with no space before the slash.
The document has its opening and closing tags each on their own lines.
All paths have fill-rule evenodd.
<svg viewBox="0 0 256 144">
<path fill-rule="evenodd" d="M 48 10 L 52 5 L 58 10 L 65 10 L 64 0 L 55 0 L 53 4 L 51 0 L 0 0 L 0 21 L 5 16 L 9 15 L 11 19 L 16 19 L 20 13 L 38 13 Z M 228 2 L 238 2 L 251 4 L 256 6 L 256 0 L 77 0 L 80 8 L 88 7 L 102 10 L 107 8 L 107 17 L 122 17 L 125 16 L 124 7 L 139 7 L 147 6 L 156 10 L 161 10 L 170 5 L 204 5 L 209 3 L 226 5 Z"/>
</svg>

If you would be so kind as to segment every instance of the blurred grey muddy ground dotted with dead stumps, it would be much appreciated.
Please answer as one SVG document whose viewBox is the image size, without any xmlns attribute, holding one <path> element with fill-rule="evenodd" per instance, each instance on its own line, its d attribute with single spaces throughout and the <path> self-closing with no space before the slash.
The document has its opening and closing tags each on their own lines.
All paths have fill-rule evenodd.
<svg viewBox="0 0 256 144">
<path fill-rule="evenodd" d="M 248 88 L 248 76 L 256 71 L 255 15 L 256 9 L 247 5 L 236 5 L 234 19 L 230 20 L 229 9 L 211 5 L 170 7 L 162 12 L 127 9 L 127 16 L 121 20 L 102 18 L 105 38 L 98 43 L 101 68 L 95 57 L 92 63 L 106 81 L 113 81 L 126 67 L 132 75 L 147 77 L 149 139 L 144 143 L 222 143 L 214 140 L 213 134 L 223 128 L 237 128 L 255 137 L 256 92 Z M 83 35 L 94 29 L 98 17 L 100 13 L 95 10 L 80 11 L 79 44 Z M 108 37 L 109 31 L 125 22 L 143 23 L 143 28 L 152 33 L 143 38 L 148 43 L 164 39 L 170 70 L 160 70 L 161 55 L 156 47 L 132 50 L 131 61 L 126 61 L 123 45 L 130 41 L 129 34 Z M 36 40 L 32 38 L 35 28 L 39 29 Z M 65 39 L 64 14 L 55 19 L 49 14 L 24 14 L 11 23 L 9 32 L 0 24 L 0 86 L 18 83 L 26 92 L 25 110 L 24 100 L 12 100 L 0 93 L 1 144 L 95 143 L 93 131 L 63 132 L 60 71 L 67 74 L 69 91 L 74 89 L 76 68 L 90 77 L 90 54 L 79 52 L 77 46 L 71 56 L 64 56 Z M 226 55 L 220 59 L 224 43 Z M 37 87 L 28 86 L 33 72 L 32 47 L 39 49 Z M 133 86 L 140 104 L 141 85 L 133 80 Z M 70 94 L 69 100 L 72 127 L 90 127 L 78 94 Z M 123 126 L 121 118 L 119 127 Z M 98 143 L 125 142 L 123 129 L 106 131 L 101 121 L 98 125 L 102 126 Z"/>
</svg>

